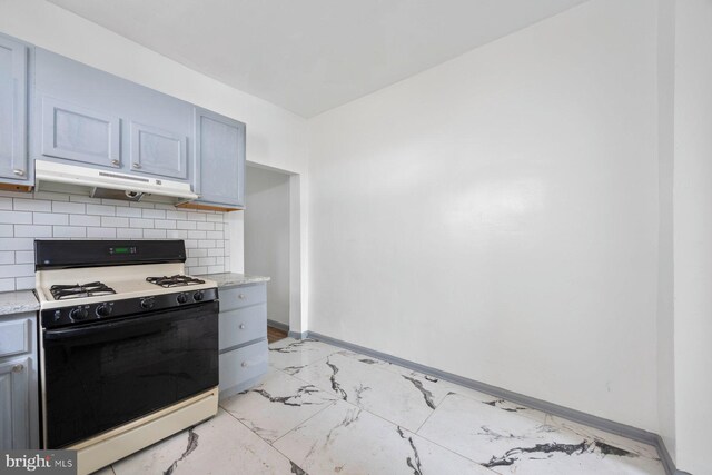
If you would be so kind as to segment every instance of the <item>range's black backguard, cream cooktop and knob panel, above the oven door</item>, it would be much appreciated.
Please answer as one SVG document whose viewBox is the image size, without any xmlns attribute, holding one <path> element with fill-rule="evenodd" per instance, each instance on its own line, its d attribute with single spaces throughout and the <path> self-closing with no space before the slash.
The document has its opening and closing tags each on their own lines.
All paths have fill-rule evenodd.
<svg viewBox="0 0 712 475">
<path fill-rule="evenodd" d="M 182 241 L 38 240 L 36 246 L 36 294 L 44 328 L 217 299 L 212 280 L 185 275 Z M 150 261 L 157 246 L 167 261 L 139 264 Z"/>
</svg>

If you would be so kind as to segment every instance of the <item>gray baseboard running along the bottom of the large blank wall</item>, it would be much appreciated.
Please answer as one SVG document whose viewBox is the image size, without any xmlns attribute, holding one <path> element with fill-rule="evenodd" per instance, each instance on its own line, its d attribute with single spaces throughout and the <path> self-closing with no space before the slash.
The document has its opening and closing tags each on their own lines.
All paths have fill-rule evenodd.
<svg viewBox="0 0 712 475">
<path fill-rule="evenodd" d="M 429 366 L 425 366 L 418 363 L 409 362 L 407 359 L 398 358 L 397 356 L 388 355 L 386 353 L 376 352 L 374 349 L 366 348 L 360 345 L 355 345 L 353 343 L 332 338 L 329 336 L 322 335 L 315 331 L 304 331 L 301 334 L 298 334 L 296 331 L 290 331 L 289 336 L 297 339 L 304 339 L 304 338 L 318 339 L 320 342 L 328 343 L 329 345 L 339 346 L 345 349 L 350 349 L 353 352 L 357 352 L 367 356 L 373 356 L 374 358 L 383 359 L 384 362 L 393 363 L 398 366 L 403 366 L 418 373 L 434 376 L 439 379 L 445 379 L 447 382 L 455 383 L 461 386 L 465 386 L 465 387 L 478 390 L 481 393 L 490 394 L 497 398 L 507 399 L 513 403 L 521 404 L 523 406 L 527 406 L 533 409 L 542 410 L 544 413 L 548 413 L 557 417 L 563 417 L 568 420 L 587 425 L 590 427 L 594 427 L 601 431 L 606 431 L 612 434 L 621 435 L 623 437 L 627 437 L 633 441 L 652 445 L 657 449 L 657 454 L 660 455 L 660 459 L 663 466 L 665 467 L 665 473 L 668 475 L 690 475 L 686 472 L 681 472 L 676 469 L 675 464 L 673 463 L 672 457 L 670 456 L 670 453 L 668 452 L 668 447 L 665 447 L 665 444 L 663 443 L 662 437 L 652 432 L 643 431 L 637 427 L 604 419 L 603 417 L 586 414 L 581 410 L 572 409 L 570 407 L 560 406 L 558 404 L 548 403 L 546 400 L 536 399 L 534 397 L 530 397 L 524 394 L 514 393 L 501 387 L 488 385 L 486 383 L 457 376 L 452 373 L 442 372 L 439 369 L 432 368 Z"/>
</svg>

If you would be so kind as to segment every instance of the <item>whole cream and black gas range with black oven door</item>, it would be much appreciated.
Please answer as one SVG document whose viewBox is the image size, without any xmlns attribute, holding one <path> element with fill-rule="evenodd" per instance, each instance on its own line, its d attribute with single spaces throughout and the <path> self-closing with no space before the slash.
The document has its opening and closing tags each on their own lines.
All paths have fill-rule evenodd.
<svg viewBox="0 0 712 475">
<path fill-rule="evenodd" d="M 89 474 L 212 417 L 215 281 L 182 240 L 36 240 L 42 447 Z"/>
</svg>

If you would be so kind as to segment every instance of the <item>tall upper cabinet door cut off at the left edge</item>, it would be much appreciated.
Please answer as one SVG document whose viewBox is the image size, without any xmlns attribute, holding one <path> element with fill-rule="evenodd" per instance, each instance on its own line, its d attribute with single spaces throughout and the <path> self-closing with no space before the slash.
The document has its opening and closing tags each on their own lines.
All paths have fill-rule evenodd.
<svg viewBox="0 0 712 475">
<path fill-rule="evenodd" d="M 0 37 L 0 177 L 29 179 L 27 155 L 28 48 Z"/>
</svg>

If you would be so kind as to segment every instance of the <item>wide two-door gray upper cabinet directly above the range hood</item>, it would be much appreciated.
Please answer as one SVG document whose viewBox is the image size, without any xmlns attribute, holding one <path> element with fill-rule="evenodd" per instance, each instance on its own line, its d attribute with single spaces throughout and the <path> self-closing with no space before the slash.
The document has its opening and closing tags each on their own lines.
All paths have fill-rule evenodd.
<svg viewBox="0 0 712 475">
<path fill-rule="evenodd" d="M 32 158 L 188 181 L 192 105 L 37 48 Z"/>
</svg>

